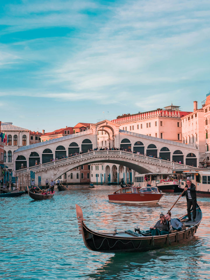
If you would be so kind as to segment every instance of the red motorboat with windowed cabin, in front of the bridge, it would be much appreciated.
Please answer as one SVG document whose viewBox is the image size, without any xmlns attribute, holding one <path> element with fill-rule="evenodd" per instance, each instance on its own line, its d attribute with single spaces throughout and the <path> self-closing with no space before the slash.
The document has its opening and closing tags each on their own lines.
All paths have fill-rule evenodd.
<svg viewBox="0 0 210 280">
<path fill-rule="evenodd" d="M 108 198 L 110 202 L 118 203 L 157 203 L 163 195 L 157 187 L 128 187 L 117 190 Z"/>
</svg>

